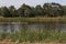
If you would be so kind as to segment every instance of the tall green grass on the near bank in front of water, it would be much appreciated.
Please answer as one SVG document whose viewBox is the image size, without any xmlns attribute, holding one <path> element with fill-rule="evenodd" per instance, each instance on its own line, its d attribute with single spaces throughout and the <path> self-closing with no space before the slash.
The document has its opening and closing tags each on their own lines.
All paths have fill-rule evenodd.
<svg viewBox="0 0 66 44">
<path fill-rule="evenodd" d="M 66 33 L 59 33 L 57 31 L 26 31 L 22 30 L 21 32 L 15 33 L 0 33 L 0 41 L 3 41 L 4 38 L 11 38 L 13 42 L 19 41 L 21 42 L 57 42 L 57 43 L 64 43 L 66 42 Z"/>
</svg>

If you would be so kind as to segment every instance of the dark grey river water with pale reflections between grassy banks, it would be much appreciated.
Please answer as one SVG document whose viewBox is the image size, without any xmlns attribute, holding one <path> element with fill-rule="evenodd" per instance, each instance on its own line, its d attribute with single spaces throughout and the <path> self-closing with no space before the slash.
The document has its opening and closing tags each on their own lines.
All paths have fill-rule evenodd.
<svg viewBox="0 0 66 44">
<path fill-rule="evenodd" d="M 66 32 L 66 23 L 28 23 L 28 22 L 0 22 L 0 32 L 18 32 L 20 30 L 57 30 Z"/>
</svg>

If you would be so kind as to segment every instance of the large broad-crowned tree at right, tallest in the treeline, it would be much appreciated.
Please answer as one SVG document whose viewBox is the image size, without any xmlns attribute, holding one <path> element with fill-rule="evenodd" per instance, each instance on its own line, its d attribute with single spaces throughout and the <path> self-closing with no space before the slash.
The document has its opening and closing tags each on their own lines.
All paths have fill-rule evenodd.
<svg viewBox="0 0 66 44">
<path fill-rule="evenodd" d="M 62 6 L 58 3 L 45 3 L 43 6 L 44 12 L 45 14 L 47 14 L 47 16 L 61 16 L 62 13 Z"/>
</svg>

